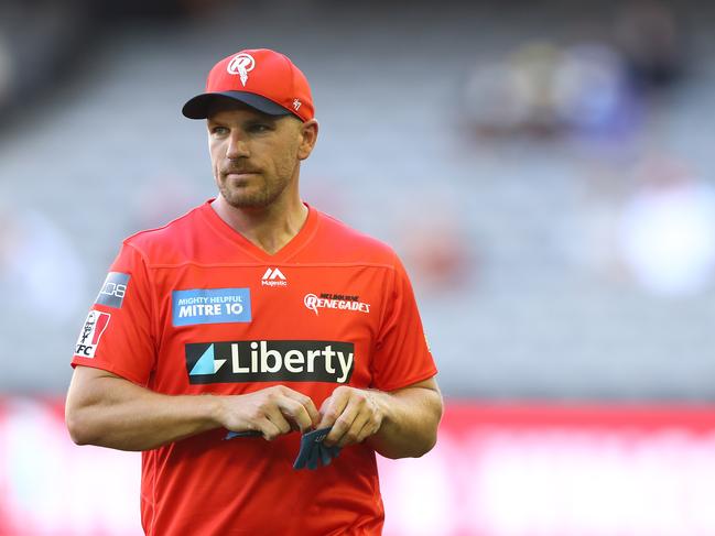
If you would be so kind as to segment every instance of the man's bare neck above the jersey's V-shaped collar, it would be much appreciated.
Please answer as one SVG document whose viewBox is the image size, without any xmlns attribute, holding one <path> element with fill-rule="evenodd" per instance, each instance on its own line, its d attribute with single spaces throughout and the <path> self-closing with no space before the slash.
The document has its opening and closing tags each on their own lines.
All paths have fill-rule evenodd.
<svg viewBox="0 0 715 536">
<path fill-rule="evenodd" d="M 212 201 L 212 208 L 235 231 L 270 255 L 300 232 L 308 214 L 300 198 L 279 200 L 264 208 L 236 208 L 219 195 Z"/>
</svg>

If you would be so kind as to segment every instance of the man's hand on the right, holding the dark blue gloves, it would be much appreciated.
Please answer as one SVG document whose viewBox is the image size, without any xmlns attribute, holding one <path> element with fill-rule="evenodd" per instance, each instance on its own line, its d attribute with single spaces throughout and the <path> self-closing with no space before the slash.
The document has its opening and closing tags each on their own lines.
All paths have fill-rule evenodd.
<svg viewBox="0 0 715 536">
<path fill-rule="evenodd" d="M 324 445 L 347 447 L 362 442 L 382 425 L 383 412 L 370 391 L 342 385 L 321 406 L 317 428 L 333 427 Z"/>
</svg>

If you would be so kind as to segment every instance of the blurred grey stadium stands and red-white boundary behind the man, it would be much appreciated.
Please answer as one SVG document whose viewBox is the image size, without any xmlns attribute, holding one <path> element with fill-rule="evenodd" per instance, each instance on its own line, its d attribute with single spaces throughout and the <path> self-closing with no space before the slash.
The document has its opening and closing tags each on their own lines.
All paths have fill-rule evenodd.
<svg viewBox="0 0 715 536">
<path fill-rule="evenodd" d="M 284 52 L 304 198 L 394 245 L 447 413 L 386 535 L 715 535 L 715 6 L 0 4 L 0 535 L 140 534 L 139 458 L 63 424 L 123 237 L 214 194 L 180 107 Z"/>
</svg>

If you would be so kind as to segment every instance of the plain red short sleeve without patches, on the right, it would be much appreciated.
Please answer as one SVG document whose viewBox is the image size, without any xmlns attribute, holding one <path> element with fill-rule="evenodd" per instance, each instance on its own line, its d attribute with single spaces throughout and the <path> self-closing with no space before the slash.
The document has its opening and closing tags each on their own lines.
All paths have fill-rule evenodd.
<svg viewBox="0 0 715 536">
<path fill-rule="evenodd" d="M 427 347 L 412 285 L 400 260 L 394 256 L 392 284 L 388 285 L 372 359 L 372 385 L 394 391 L 427 380 L 437 373 Z"/>
</svg>

